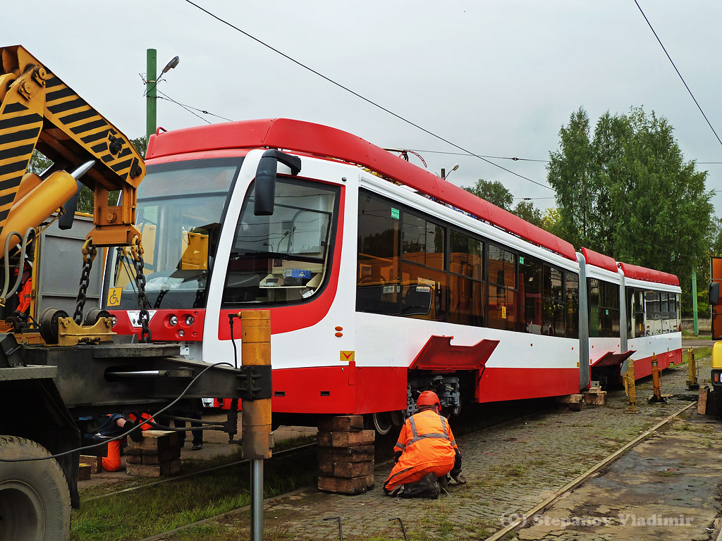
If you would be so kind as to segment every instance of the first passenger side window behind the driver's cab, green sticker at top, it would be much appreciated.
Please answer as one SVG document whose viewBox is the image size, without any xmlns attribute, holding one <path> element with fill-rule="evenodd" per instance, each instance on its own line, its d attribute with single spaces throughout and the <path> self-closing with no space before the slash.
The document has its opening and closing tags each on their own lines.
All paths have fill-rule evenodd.
<svg viewBox="0 0 722 541">
<path fill-rule="evenodd" d="M 399 315 L 400 211 L 369 193 L 359 193 L 356 309 Z"/>
</svg>

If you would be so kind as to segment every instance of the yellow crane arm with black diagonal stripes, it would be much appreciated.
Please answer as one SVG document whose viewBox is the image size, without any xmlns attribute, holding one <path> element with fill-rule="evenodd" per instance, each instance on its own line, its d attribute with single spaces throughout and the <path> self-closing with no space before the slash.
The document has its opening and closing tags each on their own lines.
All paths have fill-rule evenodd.
<svg viewBox="0 0 722 541">
<path fill-rule="evenodd" d="M 61 182 L 47 182 L 53 175 L 58 180 L 58 173 L 47 180 L 26 175 L 37 148 L 57 170 L 95 161 L 82 177 L 95 201 L 95 229 L 88 237 L 95 246 L 131 245 L 139 236 L 134 224 L 136 188 L 145 175 L 142 156 L 118 128 L 22 45 L 0 47 L 0 55 L 0 238 L 8 234 L 2 235 L 2 229 L 9 219 L 13 225 L 19 221 L 17 210 L 32 206 L 29 201 L 54 198 L 54 210 L 69 199 L 67 173 L 60 174 L 67 175 Z M 112 190 L 121 190 L 118 205 L 108 202 Z M 25 204 L 19 205 L 21 201 Z M 48 216 L 40 221 L 34 216 L 30 220 L 38 223 L 27 226 L 38 226 Z"/>
</svg>

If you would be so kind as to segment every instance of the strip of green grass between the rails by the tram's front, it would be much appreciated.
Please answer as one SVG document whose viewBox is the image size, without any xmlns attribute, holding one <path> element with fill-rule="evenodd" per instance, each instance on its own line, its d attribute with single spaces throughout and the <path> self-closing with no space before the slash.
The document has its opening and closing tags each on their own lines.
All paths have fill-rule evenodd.
<svg viewBox="0 0 722 541">
<path fill-rule="evenodd" d="M 197 462 L 198 467 L 218 465 L 215 460 Z M 264 498 L 313 485 L 318 477 L 316 452 L 266 462 L 264 470 Z M 82 509 L 73 512 L 71 540 L 144 539 L 248 505 L 249 485 L 250 467 L 246 463 L 83 503 Z M 196 531 L 195 538 L 201 537 L 198 534 Z M 227 535 L 221 538 L 233 539 Z"/>
</svg>

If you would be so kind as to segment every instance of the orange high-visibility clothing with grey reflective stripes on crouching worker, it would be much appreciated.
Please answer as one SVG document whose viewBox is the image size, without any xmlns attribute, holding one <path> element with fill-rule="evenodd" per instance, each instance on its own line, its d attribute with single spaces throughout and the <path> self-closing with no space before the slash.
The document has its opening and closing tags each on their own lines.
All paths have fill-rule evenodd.
<svg viewBox="0 0 722 541">
<path fill-rule="evenodd" d="M 413 483 L 429 472 L 446 475 L 458 447 L 446 418 L 434 410 L 424 410 L 406 419 L 393 450 L 401 451 L 401 457 L 384 483 L 387 490 Z"/>
</svg>

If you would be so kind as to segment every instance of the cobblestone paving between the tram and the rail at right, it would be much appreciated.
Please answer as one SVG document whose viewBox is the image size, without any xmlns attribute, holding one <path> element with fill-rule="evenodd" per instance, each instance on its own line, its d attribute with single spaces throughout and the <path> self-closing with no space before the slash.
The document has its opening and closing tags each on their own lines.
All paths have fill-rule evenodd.
<svg viewBox="0 0 722 541">
<path fill-rule="evenodd" d="M 710 359 L 697 362 L 700 375 L 708 374 Z M 694 394 L 687 390 L 687 377 L 686 364 L 664 371 L 662 393 Z M 647 404 L 646 397 L 651 394 L 650 377 L 638 382 L 636 414 L 624 413 L 627 408 L 624 390 L 612 390 L 606 405 L 590 405 L 579 412 L 549 408 L 473 434 L 457 434 L 468 483 L 450 483 L 448 495 L 436 501 L 386 496 L 380 487 L 391 470 L 392 464 L 388 462 L 375 468 L 373 491 L 351 497 L 311 491 L 295 496 L 292 501 L 284 498 L 274 503 L 266 509 L 266 517 L 278 516 L 269 520 L 282 521 L 288 538 L 295 540 L 337 538 L 336 521 L 323 521 L 333 516 L 342 518 L 347 540 L 379 535 L 401 538 L 396 518 L 404 521 L 412 539 L 484 539 L 515 514 L 544 501 L 599 460 L 689 403 L 671 397 L 668 403 Z M 604 515 L 602 511 L 604 508 L 597 509 L 599 516 Z M 612 514 L 617 511 L 611 510 Z M 607 540 L 593 532 L 586 532 L 584 537 L 580 532 L 550 528 L 553 531 L 546 532 L 544 539 Z M 520 538 L 524 538 L 523 532 L 518 532 Z"/>
</svg>

